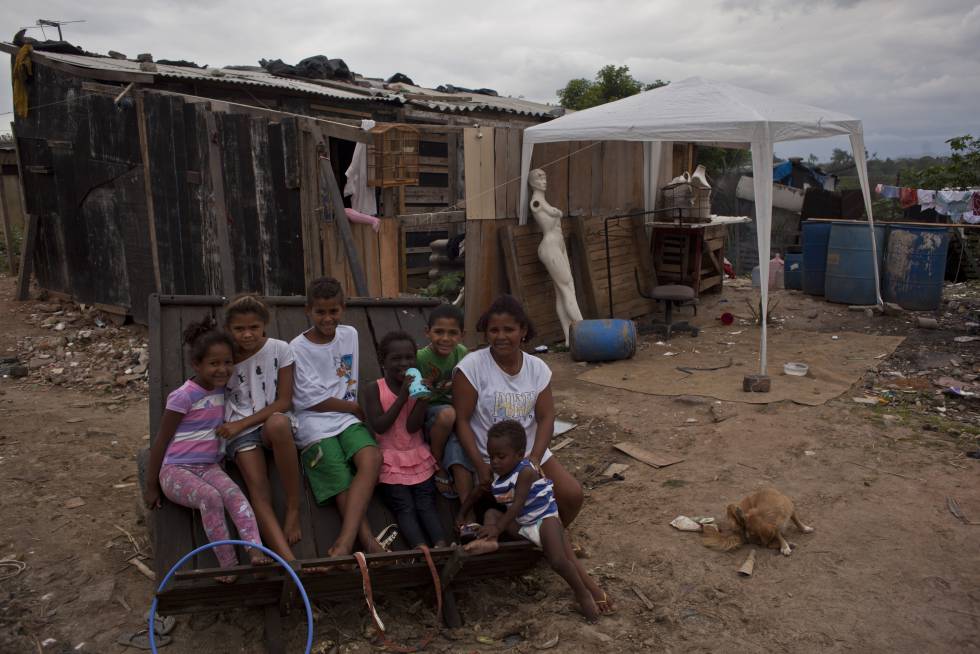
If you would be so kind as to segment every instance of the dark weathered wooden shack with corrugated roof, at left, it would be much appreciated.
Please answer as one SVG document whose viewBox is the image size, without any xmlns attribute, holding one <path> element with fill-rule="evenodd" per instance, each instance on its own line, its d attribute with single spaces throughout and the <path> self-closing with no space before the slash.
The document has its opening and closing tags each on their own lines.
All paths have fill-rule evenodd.
<svg viewBox="0 0 980 654">
<path fill-rule="evenodd" d="M 353 288 L 317 173 L 329 166 L 343 188 L 355 144 L 371 141 L 364 118 L 421 130 L 418 183 L 380 193 L 377 234 L 352 226 L 369 294 L 396 296 L 410 285 L 406 256 L 427 257 L 448 232 L 450 219 L 431 214 L 463 197 L 458 125 L 558 115 L 378 81 L 40 50 L 31 59 L 28 115 L 14 131 L 33 273 L 42 288 L 139 322 L 154 292 L 293 295 L 323 274 Z M 411 214 L 430 218 L 398 219 Z"/>
</svg>

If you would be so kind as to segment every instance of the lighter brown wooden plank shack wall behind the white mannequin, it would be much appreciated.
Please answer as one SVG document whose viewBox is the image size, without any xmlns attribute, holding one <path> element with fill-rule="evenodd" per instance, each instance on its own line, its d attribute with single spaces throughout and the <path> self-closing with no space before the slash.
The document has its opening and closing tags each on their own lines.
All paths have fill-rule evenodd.
<svg viewBox="0 0 980 654">
<path fill-rule="evenodd" d="M 481 336 L 480 313 L 501 292 L 520 299 L 535 323 L 533 344 L 564 340 L 554 284 L 538 260 L 541 232 L 518 225 L 523 130 L 466 128 L 466 330 Z M 690 170 L 690 144 L 667 149 L 661 176 Z M 531 168 L 548 177 L 548 201 L 562 211 L 569 262 L 585 318 L 638 318 L 653 311 L 644 298 L 655 281 L 645 213 L 643 145 L 629 141 L 540 144 Z M 655 181 L 655 184 L 657 182 Z M 659 187 L 659 184 L 658 184 Z"/>
</svg>

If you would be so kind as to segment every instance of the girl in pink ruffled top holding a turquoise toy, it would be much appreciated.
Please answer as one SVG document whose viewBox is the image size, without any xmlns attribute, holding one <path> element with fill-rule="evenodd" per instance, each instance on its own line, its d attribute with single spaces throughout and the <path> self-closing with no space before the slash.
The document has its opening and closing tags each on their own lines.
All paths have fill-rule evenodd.
<svg viewBox="0 0 980 654">
<path fill-rule="evenodd" d="M 364 389 L 367 422 L 384 457 L 378 490 L 398 519 L 409 547 L 444 547 L 446 536 L 436 510 L 435 457 L 422 438 L 427 399 L 412 399 L 415 341 L 405 332 L 389 332 L 378 344 L 384 377 Z"/>
</svg>

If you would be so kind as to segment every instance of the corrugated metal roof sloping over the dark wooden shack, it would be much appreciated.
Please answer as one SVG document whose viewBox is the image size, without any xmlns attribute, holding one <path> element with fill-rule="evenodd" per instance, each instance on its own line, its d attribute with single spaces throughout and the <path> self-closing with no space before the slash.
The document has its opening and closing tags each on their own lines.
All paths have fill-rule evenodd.
<svg viewBox="0 0 980 654">
<path fill-rule="evenodd" d="M 442 93 L 434 89 L 410 84 L 396 84 L 390 90 L 385 90 L 377 88 L 376 85 L 364 87 L 331 80 L 328 86 L 326 84 L 318 84 L 312 80 L 306 81 L 272 75 L 264 70 L 191 68 L 157 63 L 155 64 L 156 71 L 143 71 L 140 70 L 139 62 L 128 59 L 112 59 L 110 57 L 92 57 L 44 51 L 41 51 L 40 54 L 54 61 L 96 71 L 142 73 L 165 79 L 177 79 L 189 82 L 206 80 L 219 84 L 260 86 L 293 93 L 309 93 L 334 100 L 394 102 L 445 113 L 494 111 L 535 118 L 554 118 L 565 113 L 565 110 L 560 106 L 532 102 L 521 98 L 507 98 L 480 93 Z M 433 99 L 427 100 L 416 97 L 409 100 L 396 92 L 395 89 L 415 95 L 431 95 Z M 455 97 L 458 97 L 459 100 L 456 100 Z"/>
</svg>

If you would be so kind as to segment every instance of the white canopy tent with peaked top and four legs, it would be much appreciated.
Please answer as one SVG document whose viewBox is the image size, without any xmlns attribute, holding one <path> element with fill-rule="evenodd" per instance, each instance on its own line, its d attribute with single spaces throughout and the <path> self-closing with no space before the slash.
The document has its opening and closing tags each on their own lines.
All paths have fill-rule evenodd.
<svg viewBox="0 0 980 654">
<path fill-rule="evenodd" d="M 864 153 L 861 121 L 851 116 L 777 98 L 765 93 L 691 77 L 616 102 L 577 111 L 524 130 L 521 153 L 521 224 L 527 222 L 527 176 L 535 143 L 556 141 L 643 141 L 647 210 L 656 203 L 661 149 L 664 141 L 744 146 L 752 150 L 755 220 L 762 299 L 760 372 L 766 374 L 766 307 L 769 300 L 769 261 L 772 233 L 772 153 L 780 141 L 848 135 L 854 152 L 864 206 L 871 230 L 871 256 L 876 258 L 874 218 Z M 881 300 L 878 268 L 875 293 Z"/>
</svg>

